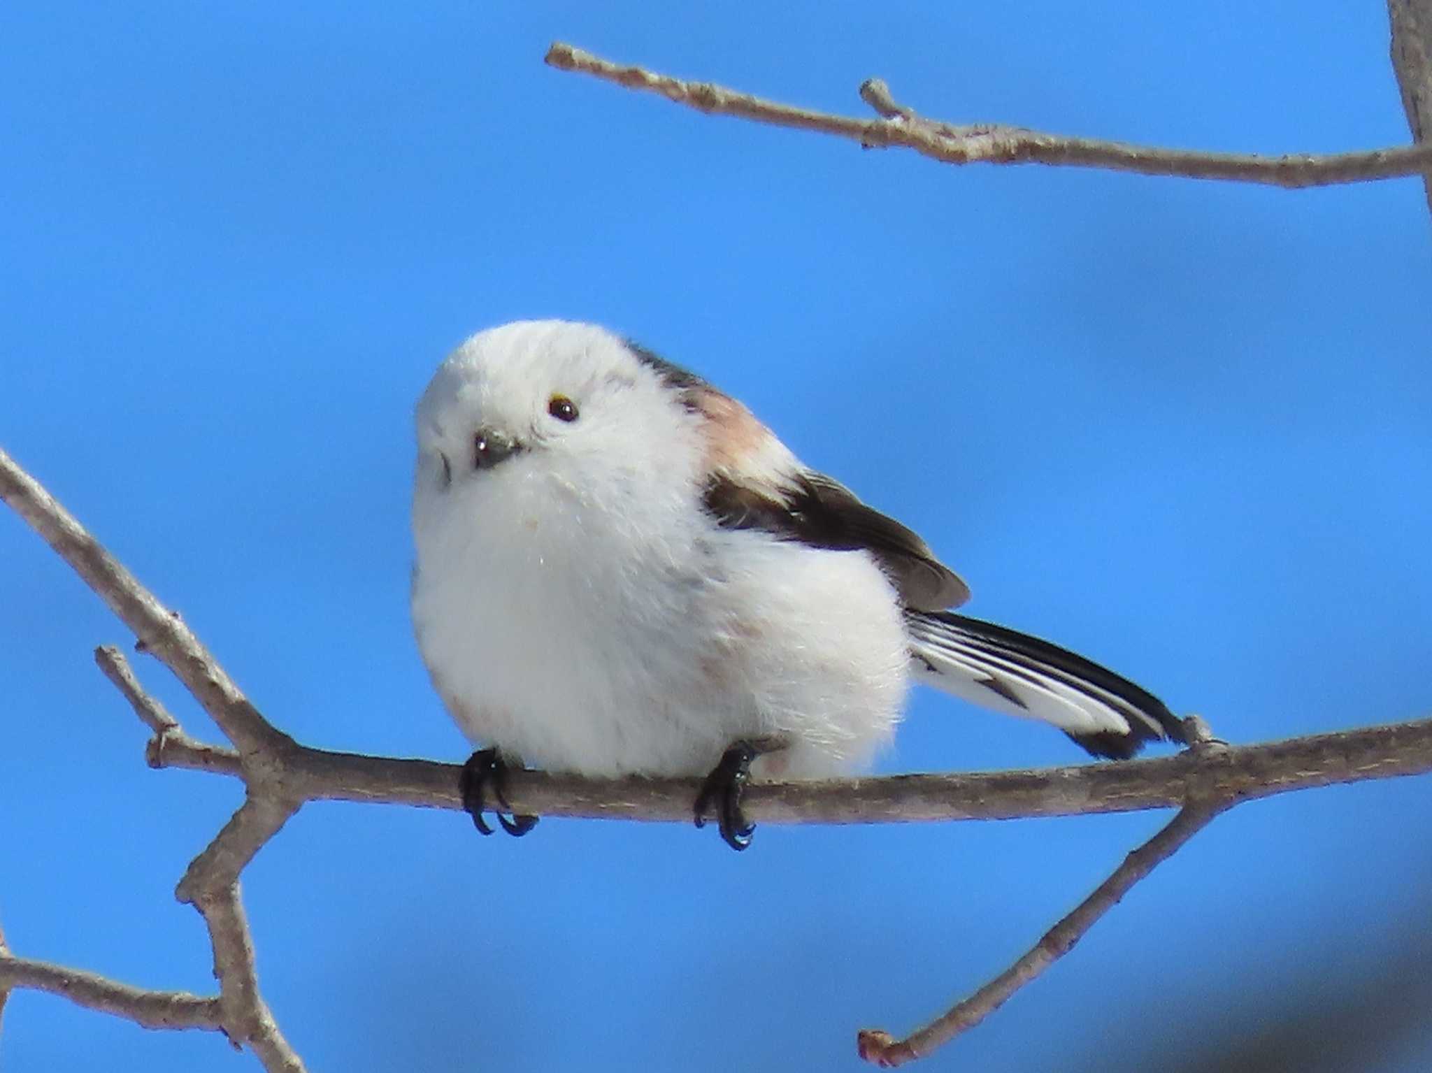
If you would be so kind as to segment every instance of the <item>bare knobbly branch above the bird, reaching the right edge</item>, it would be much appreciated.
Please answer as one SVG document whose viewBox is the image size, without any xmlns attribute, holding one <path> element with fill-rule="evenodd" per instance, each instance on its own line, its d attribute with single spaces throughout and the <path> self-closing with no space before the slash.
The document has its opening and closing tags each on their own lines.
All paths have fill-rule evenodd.
<svg viewBox="0 0 1432 1073">
<path fill-rule="evenodd" d="M 1309 153 L 1257 156 L 1067 137 L 1002 123 L 955 126 L 922 119 L 914 110 L 895 103 L 889 89 L 878 79 L 866 82 L 861 87 L 861 96 L 881 113 L 881 119 L 855 119 L 763 100 L 709 82 L 683 82 L 643 67 L 621 66 L 561 41 L 553 43 L 547 50 L 547 63 L 560 70 L 581 72 L 627 89 L 656 93 L 699 112 L 835 134 L 859 142 L 868 149 L 912 149 L 949 165 L 1063 165 L 1283 187 L 1393 179 L 1432 169 L 1432 146 L 1400 146 L 1327 156 Z"/>
</svg>

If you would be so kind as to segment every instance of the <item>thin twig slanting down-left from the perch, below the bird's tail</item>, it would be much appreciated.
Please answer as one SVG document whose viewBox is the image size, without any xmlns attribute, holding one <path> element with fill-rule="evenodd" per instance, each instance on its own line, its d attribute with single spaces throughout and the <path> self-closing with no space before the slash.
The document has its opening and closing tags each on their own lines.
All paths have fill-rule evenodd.
<svg viewBox="0 0 1432 1073">
<path fill-rule="evenodd" d="M 861 1057 L 876 1066 L 904 1066 L 906 1062 L 931 1054 L 959 1033 L 975 1027 L 998 1010 L 1010 996 L 1034 981 L 1045 969 L 1073 950 L 1074 944 L 1094 927 L 1100 917 L 1117 906 L 1136 883 L 1169 860 L 1184 843 L 1207 827 L 1213 817 L 1232 804 L 1232 800 L 1219 800 L 1184 805 L 1183 811 L 1167 827 L 1130 853 L 1093 894 L 1045 931 L 1044 937 L 1012 966 L 904 1040 L 896 1040 L 879 1029 L 861 1032 L 856 1037 Z"/>
</svg>

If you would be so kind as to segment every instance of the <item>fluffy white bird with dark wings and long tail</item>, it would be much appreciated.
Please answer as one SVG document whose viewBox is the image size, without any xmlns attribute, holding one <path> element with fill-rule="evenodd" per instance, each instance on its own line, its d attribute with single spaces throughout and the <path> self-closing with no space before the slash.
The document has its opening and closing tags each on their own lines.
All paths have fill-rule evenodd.
<svg viewBox="0 0 1432 1073">
<path fill-rule="evenodd" d="M 808 469 L 742 403 L 594 325 L 480 332 L 418 403 L 412 621 L 438 694 L 504 764 L 706 775 L 736 848 L 748 770 L 826 775 L 889 741 L 912 678 L 1128 757 L 1183 725 L 1133 682 L 949 612 L 914 532 Z M 753 767 L 752 767 L 753 765 Z M 536 820 L 498 813 L 521 834 Z"/>
</svg>

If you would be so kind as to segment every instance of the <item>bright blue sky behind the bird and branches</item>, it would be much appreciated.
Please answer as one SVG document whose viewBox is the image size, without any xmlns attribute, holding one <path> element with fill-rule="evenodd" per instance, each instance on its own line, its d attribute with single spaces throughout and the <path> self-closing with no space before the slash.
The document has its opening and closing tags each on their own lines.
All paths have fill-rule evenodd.
<svg viewBox="0 0 1432 1073">
<path fill-rule="evenodd" d="M 465 757 L 408 627 L 410 415 L 451 346 L 528 316 L 700 371 L 919 529 L 972 614 L 1232 741 L 1428 714 L 1416 180 L 957 170 L 563 74 L 554 39 L 856 114 L 879 74 L 954 122 L 1408 139 L 1380 4 L 6 6 L 0 436 L 274 722 Z M 129 640 L 0 514 L 0 924 L 24 956 L 208 990 L 172 891 L 239 791 L 143 765 L 90 657 Z M 1080 758 L 916 694 L 881 770 Z M 1335 1000 L 1423 926 L 1429 787 L 1221 817 L 929 1067 L 1147 1069 Z M 245 896 L 315 1070 L 856 1069 L 858 1027 L 942 1010 L 1164 820 L 766 827 L 736 856 L 682 825 L 478 841 L 311 805 Z M 4 1029 L 7 1072 L 256 1067 L 27 993 Z"/>
</svg>

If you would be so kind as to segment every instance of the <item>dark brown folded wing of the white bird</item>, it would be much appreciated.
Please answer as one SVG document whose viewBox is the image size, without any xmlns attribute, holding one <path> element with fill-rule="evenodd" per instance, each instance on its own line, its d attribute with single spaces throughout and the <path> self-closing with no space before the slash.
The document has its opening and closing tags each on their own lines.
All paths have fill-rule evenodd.
<svg viewBox="0 0 1432 1073">
<path fill-rule="evenodd" d="M 717 471 L 706 509 L 733 529 L 765 529 L 780 539 L 875 557 L 906 608 L 941 611 L 969 599 L 969 587 L 915 532 L 871 509 L 845 485 L 803 471 L 782 485 L 745 484 Z"/>
</svg>

